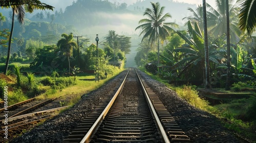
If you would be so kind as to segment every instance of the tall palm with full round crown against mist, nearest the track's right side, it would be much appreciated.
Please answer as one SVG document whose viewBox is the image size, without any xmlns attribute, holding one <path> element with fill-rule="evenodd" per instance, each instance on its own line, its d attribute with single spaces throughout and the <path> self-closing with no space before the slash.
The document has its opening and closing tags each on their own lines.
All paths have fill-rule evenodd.
<svg viewBox="0 0 256 143">
<path fill-rule="evenodd" d="M 140 33 L 140 35 L 143 35 L 141 42 L 147 37 L 149 37 L 148 43 L 151 41 L 151 44 L 153 44 L 157 41 L 157 64 L 159 65 L 159 39 L 165 39 L 170 35 L 171 31 L 174 31 L 170 26 L 178 26 L 174 22 L 164 22 L 167 18 L 172 18 L 169 13 L 163 15 L 165 7 L 161 7 L 158 2 L 151 2 L 151 5 L 152 9 L 146 8 L 143 14 L 143 16 L 146 15 L 148 18 L 141 19 L 139 23 L 143 24 L 138 26 L 135 30 L 142 29 L 142 32 Z"/>
</svg>

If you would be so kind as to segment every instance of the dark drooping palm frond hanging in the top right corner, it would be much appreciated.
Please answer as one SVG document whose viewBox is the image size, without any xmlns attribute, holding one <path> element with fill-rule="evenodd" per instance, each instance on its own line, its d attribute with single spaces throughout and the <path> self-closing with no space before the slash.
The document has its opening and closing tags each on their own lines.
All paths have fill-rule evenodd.
<svg viewBox="0 0 256 143">
<path fill-rule="evenodd" d="M 239 14 L 239 26 L 240 29 L 245 32 L 248 32 L 248 35 L 251 35 L 256 27 L 256 1 L 254 0 L 245 0 L 241 5 L 240 14 Z"/>
</svg>

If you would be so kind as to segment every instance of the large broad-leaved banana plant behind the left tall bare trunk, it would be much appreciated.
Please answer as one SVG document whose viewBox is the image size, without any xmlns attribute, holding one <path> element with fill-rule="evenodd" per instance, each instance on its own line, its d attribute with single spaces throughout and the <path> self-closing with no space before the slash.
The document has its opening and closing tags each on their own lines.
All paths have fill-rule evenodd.
<svg viewBox="0 0 256 143">
<path fill-rule="evenodd" d="M 174 49 L 177 53 L 182 53 L 183 59 L 177 61 L 171 68 L 173 70 L 179 69 L 180 74 L 185 74 L 187 78 L 191 78 L 194 76 L 194 79 L 202 79 L 204 78 L 204 68 L 205 68 L 205 50 L 204 50 L 204 38 L 203 34 L 197 24 L 195 22 L 194 27 L 191 25 L 191 22 L 187 22 L 189 36 L 185 36 L 177 31 L 177 34 L 186 41 L 186 44 L 181 45 L 177 49 Z M 219 55 L 216 51 L 217 45 L 210 44 L 209 46 L 209 61 L 219 64 L 220 60 L 224 58 Z M 193 73 L 194 71 L 194 73 Z M 186 78 L 186 79 L 187 79 Z"/>
</svg>

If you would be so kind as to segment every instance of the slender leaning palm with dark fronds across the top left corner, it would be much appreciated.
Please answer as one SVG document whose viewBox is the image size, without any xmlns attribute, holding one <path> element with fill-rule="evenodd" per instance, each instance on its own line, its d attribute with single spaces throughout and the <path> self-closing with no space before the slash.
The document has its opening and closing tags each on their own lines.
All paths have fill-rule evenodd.
<svg viewBox="0 0 256 143">
<path fill-rule="evenodd" d="M 5 65 L 5 74 L 8 70 L 9 60 L 10 60 L 10 54 L 11 54 L 11 41 L 12 41 L 12 34 L 13 34 L 13 28 L 14 28 L 14 15 L 17 15 L 17 20 L 19 23 L 24 22 L 25 12 L 32 13 L 34 9 L 36 10 L 53 10 L 54 7 L 47 5 L 45 3 L 41 3 L 38 0 L 23 0 L 23 1 L 17 1 L 17 0 L 9 0 L 9 1 L 1 1 L 0 7 L 2 8 L 12 8 L 12 26 L 11 26 L 11 32 L 9 36 L 9 44 L 8 44 L 8 53 L 7 53 L 7 60 Z"/>
</svg>

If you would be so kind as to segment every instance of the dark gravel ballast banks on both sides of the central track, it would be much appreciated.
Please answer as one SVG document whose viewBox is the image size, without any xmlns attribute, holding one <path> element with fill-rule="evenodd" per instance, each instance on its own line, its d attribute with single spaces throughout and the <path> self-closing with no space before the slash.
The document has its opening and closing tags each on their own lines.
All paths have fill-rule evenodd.
<svg viewBox="0 0 256 143">
<path fill-rule="evenodd" d="M 102 102 L 103 96 L 113 94 L 121 84 L 126 71 L 82 98 L 74 107 L 53 117 L 22 136 L 10 142 L 62 142 L 93 108 Z M 169 113 L 191 142 L 241 142 L 224 128 L 218 118 L 189 105 L 177 96 L 177 93 L 164 84 L 151 79 L 139 71 L 147 86 L 159 95 Z M 7 141 L 7 140 L 6 140 Z"/>
</svg>

